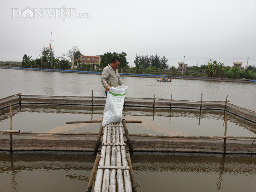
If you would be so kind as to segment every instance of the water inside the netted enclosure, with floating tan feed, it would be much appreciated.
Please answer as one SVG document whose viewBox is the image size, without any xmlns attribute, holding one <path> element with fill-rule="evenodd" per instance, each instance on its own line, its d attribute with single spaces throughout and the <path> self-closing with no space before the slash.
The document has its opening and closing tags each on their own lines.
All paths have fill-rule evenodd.
<svg viewBox="0 0 256 192">
<path fill-rule="evenodd" d="M 98 132 L 100 124 L 66 124 L 66 121 L 101 120 L 104 107 L 67 105 L 18 105 L 13 107 L 13 129 L 22 132 Z M 218 110 L 187 110 L 167 108 L 124 108 L 127 120 L 142 120 L 128 124 L 130 133 L 164 135 L 224 135 L 225 115 L 227 135 L 255 135 L 254 123 Z M 0 111 L 1 129 L 10 127 L 9 109 Z M 29 117 L 29 118 L 28 118 Z"/>
</svg>

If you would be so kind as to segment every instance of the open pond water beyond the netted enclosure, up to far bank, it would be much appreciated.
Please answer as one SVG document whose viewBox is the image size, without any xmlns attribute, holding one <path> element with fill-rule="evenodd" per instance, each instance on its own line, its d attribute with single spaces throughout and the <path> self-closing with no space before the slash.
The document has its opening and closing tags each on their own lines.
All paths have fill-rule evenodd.
<svg viewBox="0 0 256 192">
<path fill-rule="evenodd" d="M 200 100 L 228 100 L 256 110 L 256 84 L 205 80 L 173 79 L 157 82 L 155 78 L 122 76 L 128 86 L 127 97 Z M 59 96 L 104 96 L 100 75 L 28 71 L 0 68 L 0 98 L 22 93 Z"/>
</svg>

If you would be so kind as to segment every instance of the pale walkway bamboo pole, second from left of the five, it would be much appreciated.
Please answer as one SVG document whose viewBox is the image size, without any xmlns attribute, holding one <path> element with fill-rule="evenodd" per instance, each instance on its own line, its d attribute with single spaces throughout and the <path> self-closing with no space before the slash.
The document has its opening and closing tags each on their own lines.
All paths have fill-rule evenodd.
<svg viewBox="0 0 256 192">
<path fill-rule="evenodd" d="M 107 143 L 111 142 L 111 127 L 108 127 L 108 136 Z M 110 166 L 110 154 L 111 154 L 111 146 L 106 147 L 106 155 L 105 155 L 105 166 Z M 102 192 L 108 192 L 109 189 L 109 178 L 110 169 L 104 170 L 103 181 L 102 181 Z"/>
</svg>

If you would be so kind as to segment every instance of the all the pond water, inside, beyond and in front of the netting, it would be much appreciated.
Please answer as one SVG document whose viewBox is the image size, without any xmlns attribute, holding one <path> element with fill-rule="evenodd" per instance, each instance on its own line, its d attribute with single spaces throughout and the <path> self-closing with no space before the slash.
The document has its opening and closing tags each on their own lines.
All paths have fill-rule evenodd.
<svg viewBox="0 0 256 192">
<path fill-rule="evenodd" d="M 256 110 L 256 84 L 203 80 L 156 82 L 154 78 L 122 77 L 128 97 L 225 100 Z M 100 75 L 0 69 L 0 98 L 17 94 L 104 96 Z M 22 132 L 98 132 L 99 124 L 66 121 L 101 120 L 103 107 L 22 105 L 13 107 L 13 129 Z M 125 108 L 129 133 L 256 135 L 256 126 L 214 110 Z M 9 110 L 0 111 L 0 129 L 8 129 Z M 0 191 L 85 191 L 95 157 L 86 152 L 0 152 Z M 182 153 L 134 153 L 137 190 L 255 192 L 256 156 Z"/>
</svg>

